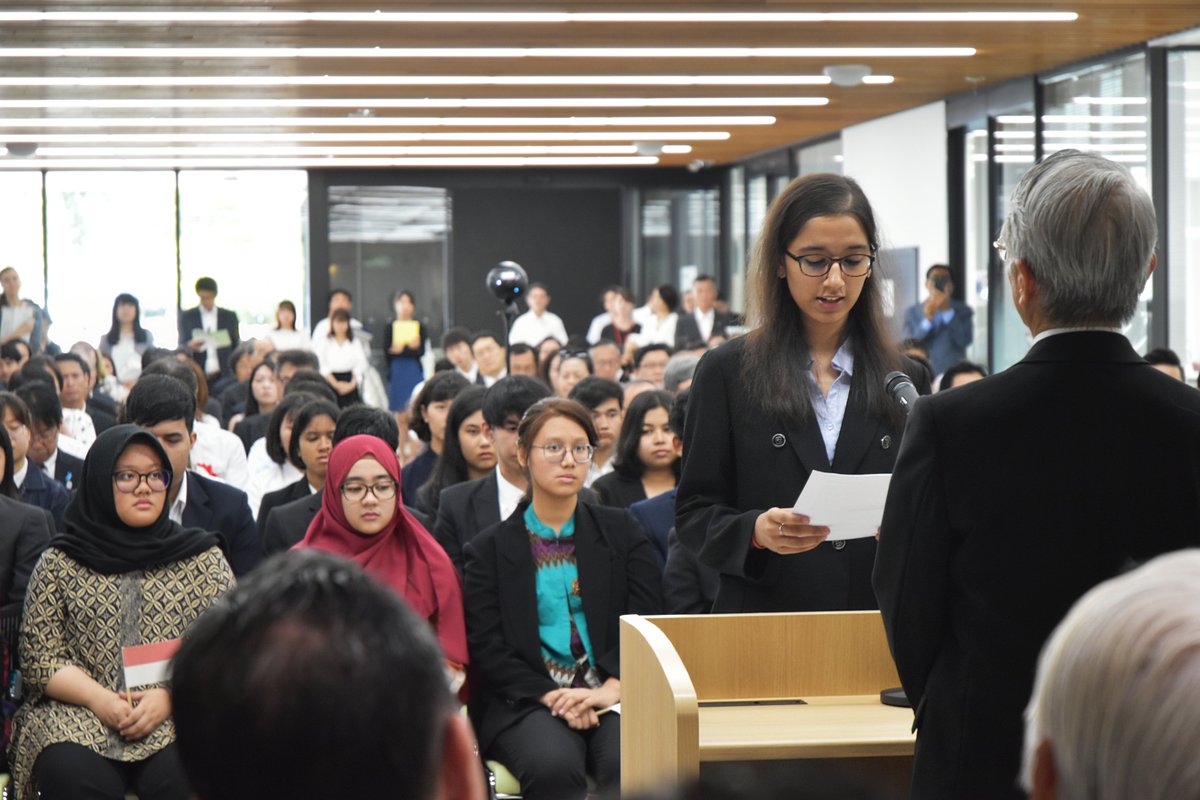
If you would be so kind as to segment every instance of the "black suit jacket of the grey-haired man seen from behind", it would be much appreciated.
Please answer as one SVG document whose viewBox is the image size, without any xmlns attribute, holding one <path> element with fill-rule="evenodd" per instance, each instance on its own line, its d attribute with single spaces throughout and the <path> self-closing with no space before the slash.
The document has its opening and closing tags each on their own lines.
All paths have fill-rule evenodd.
<svg viewBox="0 0 1200 800">
<path fill-rule="evenodd" d="M 1200 545 L 1200 392 L 1118 333 L 919 401 L 875 567 L 917 708 L 914 798 L 1019 798 L 1038 652 L 1075 600 Z"/>
</svg>

